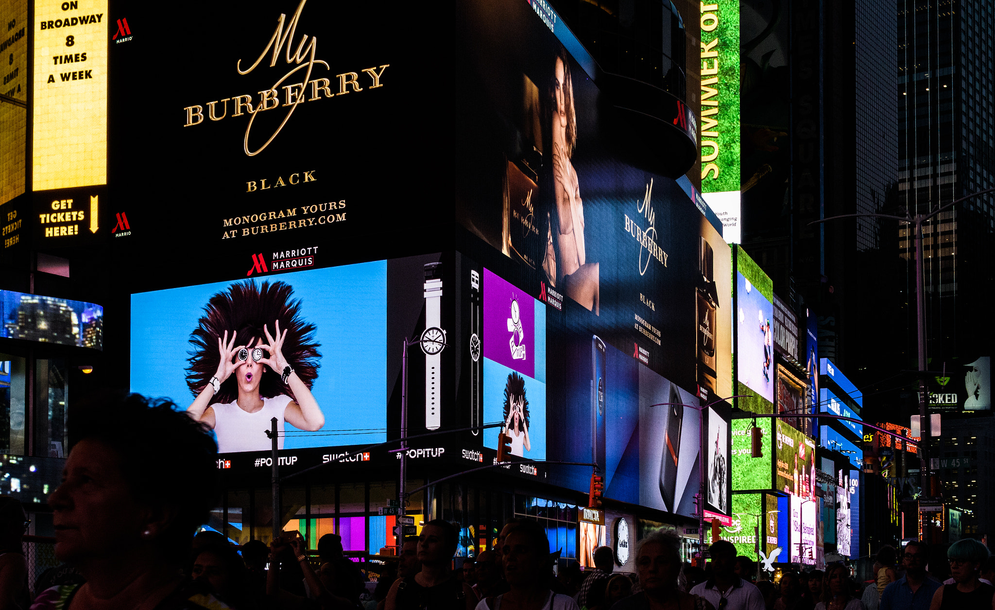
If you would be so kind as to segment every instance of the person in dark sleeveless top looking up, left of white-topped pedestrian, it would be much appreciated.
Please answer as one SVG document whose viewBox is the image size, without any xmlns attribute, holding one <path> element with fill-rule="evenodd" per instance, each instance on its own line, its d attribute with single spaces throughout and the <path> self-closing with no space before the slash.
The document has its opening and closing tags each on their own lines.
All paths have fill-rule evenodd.
<svg viewBox="0 0 995 610">
<path fill-rule="evenodd" d="M 431 520 L 422 527 L 418 538 L 422 569 L 391 585 L 386 610 L 473 610 L 477 600 L 474 590 L 453 573 L 458 534 L 457 528 L 443 519 Z"/>
</svg>

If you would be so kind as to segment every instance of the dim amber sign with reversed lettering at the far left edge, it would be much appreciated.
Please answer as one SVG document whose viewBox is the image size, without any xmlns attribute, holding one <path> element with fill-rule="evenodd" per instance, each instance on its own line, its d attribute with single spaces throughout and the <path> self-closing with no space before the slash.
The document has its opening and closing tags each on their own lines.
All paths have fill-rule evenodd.
<svg viewBox="0 0 995 610">
<path fill-rule="evenodd" d="M 0 205 L 24 192 L 28 137 L 28 1 L 0 0 Z M 20 103 L 19 103 L 20 102 Z M 6 226 L 6 223 L 4 223 Z M 5 233 L 6 235 L 6 233 Z"/>
</svg>

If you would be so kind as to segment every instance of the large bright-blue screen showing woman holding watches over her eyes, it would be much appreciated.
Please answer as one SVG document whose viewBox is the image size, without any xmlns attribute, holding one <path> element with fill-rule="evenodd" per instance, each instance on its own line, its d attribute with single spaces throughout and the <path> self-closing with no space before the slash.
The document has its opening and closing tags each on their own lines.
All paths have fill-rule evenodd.
<svg viewBox="0 0 995 610">
<path fill-rule="evenodd" d="M 250 364 L 255 354 L 244 354 L 246 359 L 241 360 L 231 376 L 221 383 L 222 392 L 236 395 L 237 399 L 224 405 L 211 404 L 216 413 L 222 408 L 226 411 L 221 418 L 215 415 L 216 423 L 220 424 L 215 427 L 219 451 L 269 450 L 270 440 L 263 431 L 270 428 L 271 411 L 272 416 L 282 420 L 281 429 L 287 431 L 286 436 L 280 437 L 281 448 L 385 440 L 386 261 L 299 271 L 262 281 L 218 282 L 132 295 L 131 390 L 170 397 L 181 408 L 192 406 L 195 392 L 188 385 L 192 380 L 190 359 L 202 353 L 207 361 L 221 359 L 217 353 L 217 338 L 209 340 L 204 349 L 192 342 L 192 333 L 203 325 L 203 316 L 224 320 L 218 327 L 227 322 L 232 324 L 233 330 L 249 328 L 250 331 L 240 333 L 240 337 L 253 335 L 249 337 L 248 348 L 255 351 L 252 347 L 257 342 L 255 339 L 263 339 L 269 345 L 265 330 L 271 335 L 275 331 L 276 312 L 293 305 L 298 306 L 298 323 L 288 330 L 289 334 L 294 332 L 288 344 L 303 346 L 298 356 L 306 357 L 296 357 L 291 352 L 284 356 L 296 360 L 298 369 L 314 367 L 309 392 L 295 396 L 296 403 L 288 402 L 290 397 L 282 390 L 284 386 L 278 373 L 269 364 Z M 274 319 L 264 319 L 261 311 L 274 312 Z M 283 318 L 282 329 L 287 329 L 290 317 L 283 312 L 279 315 Z M 265 349 L 263 355 L 269 358 L 272 353 Z M 240 361 L 240 355 L 232 354 L 231 361 Z M 265 406 L 258 411 L 267 415 L 249 417 L 255 413 L 249 413 L 241 403 L 244 399 L 258 400 L 268 387 L 280 391 L 274 391 L 276 395 L 264 401 Z M 199 388 L 195 391 L 199 394 Z M 312 401 L 306 394 L 310 394 Z M 301 431 L 292 423 L 314 423 L 314 419 L 301 417 L 305 406 L 301 401 L 309 403 L 306 406 L 316 404 L 319 414 L 313 415 L 323 421 L 321 426 Z M 300 408 L 295 409 L 294 404 Z M 413 400 L 413 404 L 424 409 L 421 401 Z M 225 416 L 232 423 L 222 423 Z M 410 417 L 417 419 L 413 414 Z M 321 431 L 335 432 L 345 428 L 357 434 L 320 435 Z"/>
</svg>

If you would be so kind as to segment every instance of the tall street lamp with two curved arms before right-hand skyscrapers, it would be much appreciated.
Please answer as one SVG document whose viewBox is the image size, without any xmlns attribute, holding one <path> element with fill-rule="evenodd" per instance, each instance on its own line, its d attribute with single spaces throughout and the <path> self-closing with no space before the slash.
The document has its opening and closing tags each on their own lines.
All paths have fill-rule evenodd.
<svg viewBox="0 0 995 610">
<path fill-rule="evenodd" d="M 899 223 L 906 225 L 915 226 L 915 316 L 916 316 L 916 334 L 918 335 L 918 356 L 919 356 L 919 421 L 921 422 L 922 432 L 921 441 L 919 443 L 919 460 L 920 460 L 920 470 L 919 475 L 922 481 L 922 493 L 926 494 L 929 490 L 929 462 L 928 462 L 928 451 L 929 451 L 929 418 L 926 417 L 926 387 L 925 387 L 925 377 L 923 376 L 923 371 L 926 370 L 926 328 L 925 328 L 925 298 L 923 293 L 925 292 L 925 281 L 922 277 L 922 223 L 931 220 L 934 216 L 950 208 L 951 206 L 971 199 L 973 197 L 978 197 L 980 195 L 986 195 L 988 193 L 995 192 L 995 188 L 985 189 L 983 191 L 978 191 L 976 193 L 971 193 L 970 195 L 965 195 L 959 199 L 954 199 L 953 201 L 942 205 L 928 214 L 916 214 L 911 216 L 908 214 L 908 210 L 905 210 L 904 216 L 893 216 L 891 214 L 842 214 L 840 216 L 831 216 L 829 218 L 823 218 L 809 223 L 810 225 L 816 225 L 824 223 L 830 220 L 837 220 L 841 218 L 888 218 L 891 220 L 896 220 Z"/>
</svg>

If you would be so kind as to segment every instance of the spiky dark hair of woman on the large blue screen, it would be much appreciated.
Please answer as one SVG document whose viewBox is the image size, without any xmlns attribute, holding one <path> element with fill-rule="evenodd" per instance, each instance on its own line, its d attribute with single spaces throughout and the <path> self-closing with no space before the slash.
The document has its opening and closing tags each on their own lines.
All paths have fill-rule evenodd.
<svg viewBox="0 0 995 610">
<path fill-rule="evenodd" d="M 288 330 L 281 351 L 300 380 L 310 388 L 320 366 L 321 354 L 317 351 L 320 344 L 314 341 L 314 324 L 304 323 L 300 318 L 300 302 L 293 297 L 294 289 L 289 284 L 264 282 L 259 286 L 253 280 L 233 284 L 211 297 L 197 328 L 190 333 L 193 350 L 188 352 L 190 365 L 186 369 L 190 392 L 196 396 L 218 370 L 218 339 L 224 337 L 225 330 L 228 330 L 229 339 L 234 331 L 235 344 L 246 345 L 251 351 L 257 341 L 266 341 L 264 324 L 269 326 L 271 335 L 276 335 L 278 319 L 281 330 Z M 273 398 L 281 394 L 297 400 L 279 374 L 264 368 L 259 395 Z M 221 384 L 221 390 L 211 398 L 211 404 L 233 402 L 238 396 L 238 381 L 232 375 Z"/>
</svg>

